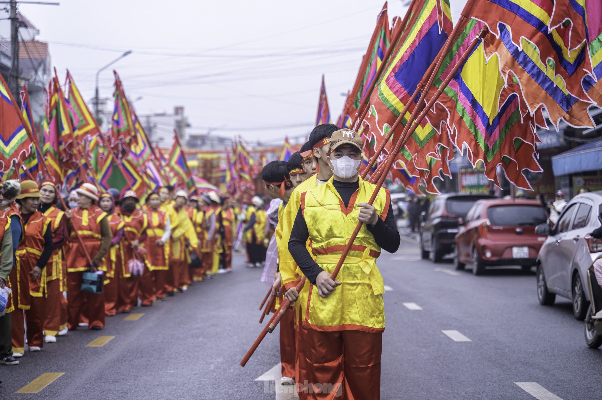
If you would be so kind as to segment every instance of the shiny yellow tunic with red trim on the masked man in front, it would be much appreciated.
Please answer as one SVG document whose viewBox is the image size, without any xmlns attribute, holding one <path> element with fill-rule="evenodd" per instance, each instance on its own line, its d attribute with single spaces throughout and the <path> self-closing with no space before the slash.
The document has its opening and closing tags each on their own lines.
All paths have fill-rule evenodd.
<svg viewBox="0 0 602 400">
<path fill-rule="evenodd" d="M 301 194 L 300 205 L 307 223 L 315 262 L 329 274 L 347 245 L 358 223 L 359 203 L 368 203 L 376 185 L 359 178 L 359 189 L 344 206 L 332 178 L 323 185 Z M 389 193 L 381 188 L 373 206 L 382 220 L 389 210 Z M 385 330 L 385 292 L 382 275 L 376 266 L 380 247 L 365 225 L 359 230 L 349 255 L 337 275 L 341 285 L 327 298 L 318 295 L 314 285 L 309 286 L 309 298 L 303 325 L 319 331 Z"/>
</svg>

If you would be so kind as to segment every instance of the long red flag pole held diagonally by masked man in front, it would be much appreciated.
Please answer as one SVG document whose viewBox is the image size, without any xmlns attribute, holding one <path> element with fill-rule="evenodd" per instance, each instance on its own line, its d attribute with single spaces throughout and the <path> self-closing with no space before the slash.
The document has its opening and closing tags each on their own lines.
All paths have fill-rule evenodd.
<svg viewBox="0 0 602 400">
<path fill-rule="evenodd" d="M 376 183 L 376 189 L 374 189 L 374 192 L 372 193 L 370 200 L 368 201 L 368 204 L 372 205 L 374 203 L 374 200 L 376 199 L 376 195 L 380 191 L 380 188 L 382 187 L 383 182 L 385 182 L 385 177 L 386 177 L 385 171 L 388 171 L 389 168 L 391 168 L 391 165 L 393 165 L 393 162 L 396 158 L 395 155 L 399 152 L 399 149 L 401 149 L 402 146 L 405 144 L 405 142 L 408 141 L 408 138 L 411 137 L 412 133 L 414 133 L 415 129 L 417 128 L 418 123 L 420 123 L 424 119 L 424 117 L 426 116 L 426 113 L 433 106 L 433 104 L 435 104 L 435 102 L 436 102 L 436 100 L 438 100 L 439 96 L 441 96 L 441 93 L 443 93 L 443 90 L 445 89 L 445 87 L 447 87 L 449 82 L 452 80 L 455 73 L 458 72 L 460 67 L 464 64 L 464 61 L 468 58 L 468 55 L 471 54 L 473 49 L 479 43 L 479 40 L 481 38 L 483 38 L 485 36 L 485 34 L 487 34 L 487 33 L 488 33 L 488 31 L 486 29 L 482 29 L 482 31 L 479 33 L 479 35 L 473 39 L 470 46 L 468 46 L 468 48 L 462 54 L 462 57 L 460 58 L 458 63 L 453 67 L 453 69 L 450 71 L 450 73 L 448 73 L 448 75 L 445 78 L 445 80 L 443 81 L 441 87 L 439 87 L 439 89 L 436 91 L 435 95 L 429 100 L 429 103 L 422 108 L 422 111 L 420 112 L 420 115 L 418 115 L 418 117 L 416 117 L 416 114 L 418 114 L 419 108 L 417 107 L 414 109 L 414 112 L 412 112 L 412 116 L 410 117 L 408 124 L 406 124 L 405 129 L 403 129 L 402 135 L 400 135 L 399 139 L 397 140 L 397 143 L 394 146 L 394 149 L 393 149 L 394 151 L 389 153 L 389 155 L 385 159 L 385 163 L 383 164 L 384 167 L 382 168 L 382 170 L 380 172 L 380 176 L 378 178 L 378 182 Z M 447 47 L 447 45 L 446 45 L 446 47 Z M 430 84 L 432 83 L 434 78 L 435 78 L 434 74 L 432 76 L 430 76 L 429 82 L 426 85 L 427 88 L 430 87 Z M 426 96 L 426 92 L 427 91 L 423 92 L 423 94 L 421 96 L 421 100 L 423 100 L 424 97 Z M 418 104 L 423 104 L 423 102 L 420 101 Z M 403 114 L 400 114 L 400 116 L 398 117 L 398 120 L 400 120 L 400 118 L 402 118 L 402 117 L 403 117 Z M 399 125 L 399 123 L 397 121 L 396 121 L 396 125 Z M 338 272 L 340 271 L 341 267 L 343 266 L 343 263 L 345 262 L 347 254 L 349 253 L 349 250 L 353 244 L 353 241 L 355 241 L 355 238 L 358 236 L 358 233 L 359 233 L 359 230 L 361 229 L 361 227 L 362 227 L 362 223 L 358 222 L 357 226 L 355 227 L 355 230 L 353 230 L 351 238 L 349 239 L 349 241 L 347 242 L 347 245 L 345 246 L 345 248 L 343 250 L 343 254 L 341 254 L 341 258 L 339 259 L 337 266 L 335 267 L 334 271 L 330 275 L 330 279 L 335 280 L 337 278 Z M 303 288 L 303 285 L 305 284 L 305 280 L 306 280 L 305 277 L 302 277 L 301 280 L 299 280 L 299 283 L 297 284 L 297 287 L 296 287 L 297 292 L 299 292 L 301 290 L 301 288 Z M 268 325 L 263 328 L 263 330 L 259 334 L 259 337 L 255 340 L 255 343 L 253 343 L 253 346 L 251 346 L 251 348 L 249 349 L 247 354 L 244 356 L 243 360 L 240 362 L 241 366 L 246 365 L 246 363 L 249 361 L 249 358 L 251 357 L 251 355 L 253 355 L 253 352 L 255 352 L 255 349 L 259 346 L 259 343 L 261 343 L 261 340 L 263 340 L 265 335 L 268 332 L 272 333 L 272 331 L 276 328 L 276 325 L 278 325 L 278 322 L 282 319 L 282 316 L 287 312 L 290 304 L 291 304 L 291 302 L 289 300 L 285 300 L 282 302 L 278 311 L 275 313 L 275 315 L 272 316 L 272 319 L 270 319 L 270 322 L 268 322 Z"/>
</svg>

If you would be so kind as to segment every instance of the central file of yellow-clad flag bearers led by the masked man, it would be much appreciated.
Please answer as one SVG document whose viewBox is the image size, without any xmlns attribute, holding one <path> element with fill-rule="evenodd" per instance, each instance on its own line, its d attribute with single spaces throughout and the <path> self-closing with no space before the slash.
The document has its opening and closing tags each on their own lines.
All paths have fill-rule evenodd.
<svg viewBox="0 0 602 400">
<path fill-rule="evenodd" d="M 379 189 L 368 204 L 376 185 L 358 176 L 361 159 L 356 132 L 323 124 L 288 162 L 262 170 L 267 193 L 282 200 L 272 295 L 284 296 L 274 308 L 284 297 L 293 303 L 280 322 L 281 383 L 296 384 L 301 399 L 380 398 L 385 315 L 376 259 L 381 250 L 397 251 L 400 236 L 389 192 Z M 358 220 L 361 230 L 332 280 Z"/>
</svg>

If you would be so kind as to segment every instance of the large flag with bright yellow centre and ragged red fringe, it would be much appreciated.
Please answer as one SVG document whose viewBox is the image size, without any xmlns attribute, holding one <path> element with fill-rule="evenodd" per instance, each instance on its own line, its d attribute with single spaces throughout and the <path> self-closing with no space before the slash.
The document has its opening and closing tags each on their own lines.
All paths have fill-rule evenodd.
<svg viewBox="0 0 602 400">
<path fill-rule="evenodd" d="M 439 88 L 443 90 L 427 119 L 439 134 L 450 137 L 460 152 L 467 151 L 473 167 L 482 160 L 486 176 L 497 185 L 496 171 L 501 166 L 515 186 L 530 189 L 523 170 L 541 171 L 536 161 L 535 117 L 520 96 L 515 76 L 502 75 L 498 57 L 486 57 L 483 40 L 477 38 L 483 26 L 476 19 L 465 19 L 457 27 L 450 50 L 442 55 L 441 67 L 427 91 L 429 100 Z M 461 55 L 474 40 L 479 40 L 479 45 L 447 87 L 442 87 L 442 81 L 462 62 Z M 444 157 L 435 158 L 447 164 Z"/>
</svg>

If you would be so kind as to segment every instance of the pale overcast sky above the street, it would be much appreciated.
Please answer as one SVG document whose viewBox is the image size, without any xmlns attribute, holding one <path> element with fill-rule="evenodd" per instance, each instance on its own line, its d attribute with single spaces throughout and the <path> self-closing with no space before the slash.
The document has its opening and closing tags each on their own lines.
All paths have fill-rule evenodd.
<svg viewBox="0 0 602 400">
<path fill-rule="evenodd" d="M 242 135 L 280 144 L 311 131 L 321 75 L 331 118 L 343 108 L 382 0 L 185 1 L 53 0 L 20 5 L 50 43 L 59 78 L 69 68 L 85 99 L 96 70 L 113 93 L 116 69 L 138 114 L 183 105 L 188 133 Z M 404 1 L 405 2 L 405 1 Z M 465 0 L 451 0 L 457 20 Z M 389 1 L 389 19 L 406 11 Z M 90 105 L 88 103 L 88 105 Z M 294 140 L 291 140 L 294 143 Z"/>
</svg>

